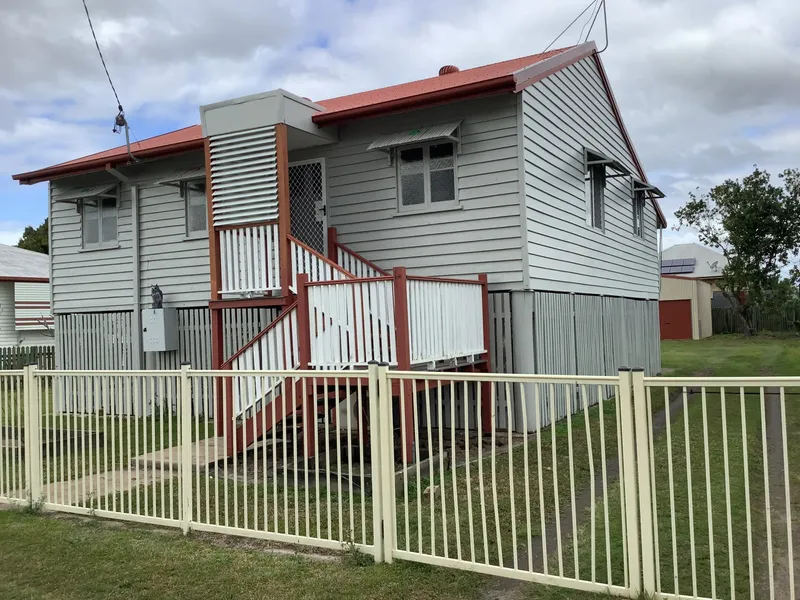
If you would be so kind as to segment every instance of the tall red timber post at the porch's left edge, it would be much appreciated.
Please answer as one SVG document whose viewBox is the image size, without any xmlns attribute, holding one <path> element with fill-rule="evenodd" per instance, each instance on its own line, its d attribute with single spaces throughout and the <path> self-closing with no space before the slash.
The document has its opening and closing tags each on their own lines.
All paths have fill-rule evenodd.
<svg viewBox="0 0 800 600">
<path fill-rule="evenodd" d="M 209 271 L 211 275 L 211 302 L 213 303 L 215 300 L 219 300 L 220 298 L 220 289 L 222 289 L 221 281 L 220 281 L 220 272 L 222 271 L 222 266 L 220 264 L 220 254 L 219 254 L 219 238 L 217 237 L 217 229 L 214 227 L 214 191 L 213 191 L 213 182 L 211 179 L 211 140 L 209 138 L 205 138 L 204 140 L 204 150 L 205 150 L 205 162 L 206 162 L 206 198 L 208 198 L 208 253 L 209 253 Z M 220 308 L 213 308 L 211 307 L 211 368 L 215 371 L 219 370 L 222 367 L 222 363 L 225 361 L 224 357 L 224 343 L 222 339 L 222 309 Z M 225 414 L 223 411 L 223 393 L 222 393 L 222 386 L 224 385 L 224 381 L 222 379 L 216 379 L 214 384 L 214 392 L 216 394 L 216 435 L 221 437 L 224 433 L 226 426 L 228 427 L 228 433 L 231 435 L 233 433 L 233 420 L 228 419 L 228 423 L 226 423 L 222 415 Z M 229 396 L 231 394 L 228 394 Z M 230 415 L 230 411 L 228 412 Z"/>
</svg>

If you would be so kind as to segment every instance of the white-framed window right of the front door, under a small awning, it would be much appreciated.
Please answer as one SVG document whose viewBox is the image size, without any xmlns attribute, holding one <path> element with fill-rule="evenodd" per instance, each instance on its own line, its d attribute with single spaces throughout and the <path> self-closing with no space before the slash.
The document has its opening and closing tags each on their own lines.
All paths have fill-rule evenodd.
<svg viewBox="0 0 800 600">
<path fill-rule="evenodd" d="M 434 142 L 398 151 L 400 208 L 455 205 L 456 157 L 452 142 Z"/>
</svg>

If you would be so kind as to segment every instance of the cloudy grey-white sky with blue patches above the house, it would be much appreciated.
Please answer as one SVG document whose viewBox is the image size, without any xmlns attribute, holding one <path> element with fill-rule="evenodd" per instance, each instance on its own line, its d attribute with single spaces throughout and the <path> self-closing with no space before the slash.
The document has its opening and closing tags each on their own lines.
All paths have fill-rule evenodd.
<svg viewBox="0 0 800 600">
<path fill-rule="evenodd" d="M 199 104 L 286 88 L 312 99 L 533 54 L 588 0 L 87 0 L 138 139 Z M 800 2 L 608 0 L 603 60 L 651 180 L 687 192 L 753 164 L 800 167 Z M 592 39 L 603 44 L 601 21 Z M 558 46 L 577 42 L 580 20 Z M 121 143 L 80 0 L 0 0 L 0 243 L 47 214 L 12 173 Z M 665 242 L 692 239 L 669 231 Z"/>
</svg>

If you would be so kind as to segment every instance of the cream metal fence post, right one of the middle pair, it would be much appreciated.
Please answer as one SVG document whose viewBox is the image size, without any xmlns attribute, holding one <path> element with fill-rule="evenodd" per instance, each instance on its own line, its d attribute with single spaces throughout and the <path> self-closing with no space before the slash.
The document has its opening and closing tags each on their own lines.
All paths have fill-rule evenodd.
<svg viewBox="0 0 800 600">
<path fill-rule="evenodd" d="M 402 385 L 402 384 L 401 384 Z M 396 532 L 394 501 L 394 427 L 392 427 L 392 386 L 389 366 L 378 367 L 378 409 L 380 411 L 381 442 L 381 503 L 383 504 L 383 556 L 393 562 Z M 400 407 L 403 410 L 404 407 Z"/>
</svg>

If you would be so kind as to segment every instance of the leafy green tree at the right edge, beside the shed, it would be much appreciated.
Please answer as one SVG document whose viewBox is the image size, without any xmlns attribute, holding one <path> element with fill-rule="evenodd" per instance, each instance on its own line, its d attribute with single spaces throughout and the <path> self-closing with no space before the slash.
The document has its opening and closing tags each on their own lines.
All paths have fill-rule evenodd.
<svg viewBox="0 0 800 600">
<path fill-rule="evenodd" d="M 675 216 L 700 241 L 728 259 L 719 287 L 753 331 L 753 307 L 785 300 L 785 272 L 800 252 L 800 170 L 787 169 L 773 185 L 755 167 L 741 181 L 728 179 L 707 194 L 689 194 Z M 791 279 L 798 272 L 791 269 Z"/>
</svg>

